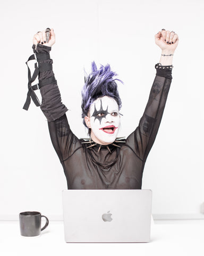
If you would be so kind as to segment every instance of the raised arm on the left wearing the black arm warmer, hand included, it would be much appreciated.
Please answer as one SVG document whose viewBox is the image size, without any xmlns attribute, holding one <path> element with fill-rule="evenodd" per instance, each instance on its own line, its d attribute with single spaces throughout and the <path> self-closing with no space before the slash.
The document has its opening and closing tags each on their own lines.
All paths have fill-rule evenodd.
<svg viewBox="0 0 204 256">
<path fill-rule="evenodd" d="M 62 103 L 60 90 L 53 73 L 53 60 L 50 59 L 49 52 L 55 43 L 55 33 L 50 31 L 49 42 L 46 43 L 45 31 L 38 32 L 33 37 L 33 51 L 36 54 L 39 67 L 39 87 L 42 96 L 41 110 L 48 121 L 49 133 L 55 151 L 64 161 L 77 147 L 81 147 L 79 140 L 70 130 L 67 122 L 67 108 Z"/>
</svg>

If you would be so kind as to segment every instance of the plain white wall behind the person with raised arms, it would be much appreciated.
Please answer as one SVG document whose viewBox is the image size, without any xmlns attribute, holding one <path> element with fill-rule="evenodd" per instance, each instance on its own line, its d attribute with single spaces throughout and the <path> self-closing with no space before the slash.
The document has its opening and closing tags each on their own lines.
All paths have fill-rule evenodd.
<svg viewBox="0 0 204 256">
<path fill-rule="evenodd" d="M 51 56 L 71 129 L 86 137 L 81 119 L 83 69 L 111 63 L 124 85 L 122 129 L 139 123 L 155 77 L 160 49 L 154 35 L 174 30 L 180 43 L 174 56 L 172 87 L 162 124 L 143 174 L 142 188 L 153 191 L 152 212 L 201 215 L 203 173 L 203 7 L 195 1 L 4 1 L 1 4 L 1 179 L 0 219 L 21 211 L 62 218 L 63 168 L 49 139 L 47 121 L 27 94 L 25 61 L 32 37 L 53 27 Z M 162 214 L 162 215 L 161 215 Z"/>
</svg>

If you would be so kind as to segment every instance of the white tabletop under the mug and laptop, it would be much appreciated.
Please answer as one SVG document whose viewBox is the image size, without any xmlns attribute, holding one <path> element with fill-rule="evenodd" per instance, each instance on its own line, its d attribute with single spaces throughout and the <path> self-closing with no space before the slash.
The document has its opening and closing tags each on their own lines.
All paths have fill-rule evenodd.
<svg viewBox="0 0 204 256">
<path fill-rule="evenodd" d="M 151 228 L 150 243 L 78 243 L 64 242 L 62 221 L 50 221 L 37 237 L 20 235 L 18 221 L 0 221 L 0 255 L 203 255 L 204 220 L 157 221 Z"/>
</svg>

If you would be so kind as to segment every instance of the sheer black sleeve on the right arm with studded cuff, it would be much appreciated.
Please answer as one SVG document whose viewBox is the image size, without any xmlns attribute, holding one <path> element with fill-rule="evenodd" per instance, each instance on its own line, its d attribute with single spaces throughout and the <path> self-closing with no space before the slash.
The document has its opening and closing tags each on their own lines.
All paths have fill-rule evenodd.
<svg viewBox="0 0 204 256">
<path fill-rule="evenodd" d="M 155 141 L 172 82 L 172 66 L 156 65 L 155 67 L 157 74 L 151 87 L 145 112 L 137 129 L 126 140 L 127 145 L 144 162 Z"/>
</svg>

